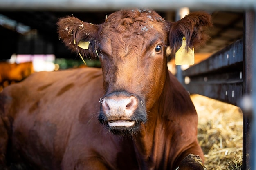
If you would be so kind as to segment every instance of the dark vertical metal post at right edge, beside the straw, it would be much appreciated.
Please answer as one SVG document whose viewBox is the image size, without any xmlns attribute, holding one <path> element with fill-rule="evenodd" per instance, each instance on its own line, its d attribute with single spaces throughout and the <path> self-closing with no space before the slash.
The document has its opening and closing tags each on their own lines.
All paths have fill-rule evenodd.
<svg viewBox="0 0 256 170">
<path fill-rule="evenodd" d="M 254 44 L 254 12 L 244 12 L 244 37 L 243 37 L 243 95 L 252 94 L 252 60 L 253 60 L 253 44 Z M 250 150 L 251 150 L 251 120 L 252 108 L 244 108 L 243 111 L 243 170 L 248 170 Z"/>
</svg>

